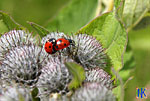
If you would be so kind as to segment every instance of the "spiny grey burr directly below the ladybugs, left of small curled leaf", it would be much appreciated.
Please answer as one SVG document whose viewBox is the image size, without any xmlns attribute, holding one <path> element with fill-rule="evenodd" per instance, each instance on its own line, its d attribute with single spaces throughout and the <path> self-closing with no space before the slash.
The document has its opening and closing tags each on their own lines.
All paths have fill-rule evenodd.
<svg viewBox="0 0 150 101">
<path fill-rule="evenodd" d="M 60 59 L 61 58 L 61 59 Z M 68 92 L 68 84 L 72 79 L 65 62 L 72 62 L 72 59 L 66 57 L 51 57 L 45 62 L 42 73 L 39 77 L 37 86 L 40 88 L 40 94 Z"/>
</svg>

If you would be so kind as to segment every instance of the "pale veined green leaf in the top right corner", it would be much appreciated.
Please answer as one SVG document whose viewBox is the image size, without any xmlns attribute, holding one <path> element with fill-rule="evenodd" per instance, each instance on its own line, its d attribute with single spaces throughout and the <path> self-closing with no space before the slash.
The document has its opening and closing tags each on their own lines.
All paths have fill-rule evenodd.
<svg viewBox="0 0 150 101">
<path fill-rule="evenodd" d="M 140 22 L 149 8 L 150 0 L 125 0 L 123 21 L 128 31 Z"/>
</svg>

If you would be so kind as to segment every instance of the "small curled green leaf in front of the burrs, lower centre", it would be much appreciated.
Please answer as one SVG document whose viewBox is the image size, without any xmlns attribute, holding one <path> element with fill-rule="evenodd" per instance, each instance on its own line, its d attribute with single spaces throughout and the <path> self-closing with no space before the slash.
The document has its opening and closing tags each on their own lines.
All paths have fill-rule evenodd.
<svg viewBox="0 0 150 101">
<path fill-rule="evenodd" d="M 84 68 L 74 62 L 66 62 L 65 65 L 73 76 L 68 88 L 70 90 L 76 89 L 77 87 L 81 86 L 82 82 L 85 80 Z"/>
</svg>

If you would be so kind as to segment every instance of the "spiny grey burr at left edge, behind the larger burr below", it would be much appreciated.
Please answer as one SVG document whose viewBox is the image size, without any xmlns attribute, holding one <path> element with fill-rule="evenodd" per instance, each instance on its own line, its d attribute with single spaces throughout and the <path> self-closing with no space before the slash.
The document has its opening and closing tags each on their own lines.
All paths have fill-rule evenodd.
<svg viewBox="0 0 150 101">
<path fill-rule="evenodd" d="M 12 30 L 5 33 L 0 38 L 0 60 L 8 52 L 8 50 L 23 45 L 36 43 L 35 38 L 29 32 L 23 30 Z"/>
</svg>

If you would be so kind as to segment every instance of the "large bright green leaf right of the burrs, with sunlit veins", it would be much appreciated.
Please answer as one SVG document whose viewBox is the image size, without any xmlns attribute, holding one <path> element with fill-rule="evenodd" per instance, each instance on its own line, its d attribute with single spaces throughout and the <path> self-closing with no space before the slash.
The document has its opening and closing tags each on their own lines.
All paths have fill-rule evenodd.
<svg viewBox="0 0 150 101">
<path fill-rule="evenodd" d="M 95 36 L 103 48 L 106 48 L 106 53 L 115 70 L 122 68 L 122 56 L 127 43 L 127 33 L 123 25 L 116 19 L 114 12 L 97 17 L 78 33 Z"/>
</svg>

